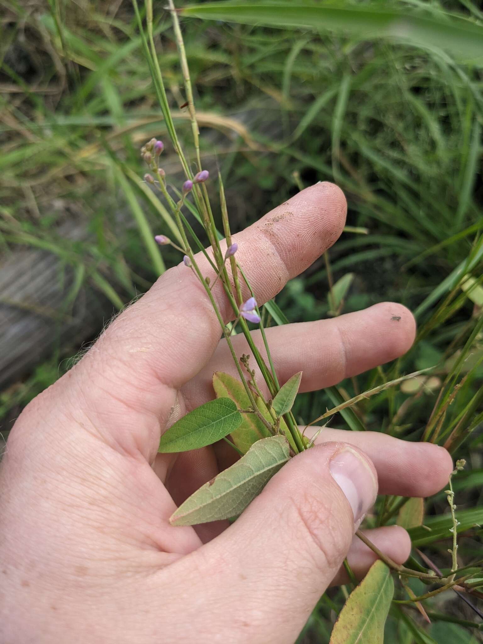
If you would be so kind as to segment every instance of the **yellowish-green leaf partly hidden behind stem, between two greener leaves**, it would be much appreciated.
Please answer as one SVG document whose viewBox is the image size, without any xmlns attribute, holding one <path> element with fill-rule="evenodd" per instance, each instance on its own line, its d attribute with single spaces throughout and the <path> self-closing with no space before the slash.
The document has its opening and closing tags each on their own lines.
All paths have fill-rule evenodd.
<svg viewBox="0 0 483 644">
<path fill-rule="evenodd" d="M 240 409 L 248 409 L 251 406 L 245 387 L 230 374 L 225 374 L 222 371 L 215 372 L 213 374 L 213 388 L 217 398 L 228 397 Z M 261 403 L 263 404 L 263 401 Z M 273 422 L 264 404 L 263 407 L 265 408 L 263 416 L 267 421 Z M 232 441 L 243 454 L 247 453 L 254 442 L 269 436 L 270 431 L 255 413 L 243 413 L 242 423 L 238 429 L 231 432 Z"/>
</svg>

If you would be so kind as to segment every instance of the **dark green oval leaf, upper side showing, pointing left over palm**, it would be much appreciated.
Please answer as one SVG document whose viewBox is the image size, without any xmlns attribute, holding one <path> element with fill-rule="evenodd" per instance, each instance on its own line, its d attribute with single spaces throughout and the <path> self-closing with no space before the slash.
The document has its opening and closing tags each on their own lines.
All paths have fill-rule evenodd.
<svg viewBox="0 0 483 644">
<path fill-rule="evenodd" d="M 197 450 L 223 439 L 242 424 L 242 414 L 229 398 L 217 398 L 187 413 L 162 435 L 162 452 Z"/>
</svg>

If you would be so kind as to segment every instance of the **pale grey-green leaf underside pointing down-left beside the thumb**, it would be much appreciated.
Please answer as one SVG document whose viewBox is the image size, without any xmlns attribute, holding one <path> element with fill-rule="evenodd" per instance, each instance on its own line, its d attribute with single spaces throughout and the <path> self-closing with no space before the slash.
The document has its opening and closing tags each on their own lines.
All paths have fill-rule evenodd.
<svg viewBox="0 0 483 644">
<path fill-rule="evenodd" d="M 283 436 L 258 440 L 234 465 L 187 498 L 169 522 L 193 526 L 240 515 L 287 460 L 289 444 Z"/>
</svg>

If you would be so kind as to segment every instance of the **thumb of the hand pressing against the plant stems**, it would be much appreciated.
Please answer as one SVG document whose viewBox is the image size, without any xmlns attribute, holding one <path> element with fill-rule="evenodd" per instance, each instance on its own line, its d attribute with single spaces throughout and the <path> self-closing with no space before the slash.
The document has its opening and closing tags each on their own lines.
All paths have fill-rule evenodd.
<svg viewBox="0 0 483 644">
<path fill-rule="evenodd" d="M 192 553 L 222 623 L 242 620 L 240 641 L 294 642 L 376 494 L 372 462 L 346 443 L 291 459 L 231 527 Z"/>
</svg>

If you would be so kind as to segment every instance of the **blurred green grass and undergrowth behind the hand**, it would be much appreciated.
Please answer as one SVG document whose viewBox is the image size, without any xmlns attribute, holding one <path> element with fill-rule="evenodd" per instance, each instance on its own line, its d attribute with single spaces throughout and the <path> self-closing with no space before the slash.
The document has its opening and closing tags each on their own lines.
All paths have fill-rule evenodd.
<svg viewBox="0 0 483 644">
<path fill-rule="evenodd" d="M 189 138 L 163 6 L 155 3 L 159 62 L 178 129 Z M 483 19 L 469 0 L 394 6 L 448 24 L 447 12 L 479 24 Z M 57 258 L 56 279 L 65 288 L 61 305 L 52 308 L 0 292 L 2 334 L 12 308 L 50 316 L 56 329 L 50 343 L 32 350 L 21 377 L 0 392 L 6 437 L 24 404 L 68 368 L 109 316 L 149 288 L 164 261 L 169 266 L 179 258 L 164 249 L 161 259 L 150 247 L 148 238 L 169 231 L 128 170 L 144 173 L 142 142 L 151 136 L 167 142 L 131 2 L 0 0 L 0 7 L 0 267 L 20 251 L 43 249 Z M 483 522 L 483 59 L 461 59 L 445 43 L 363 39 L 357 30 L 193 17 L 183 18 L 182 26 L 202 155 L 211 171 L 222 173 L 232 231 L 319 180 L 337 182 L 348 198 L 349 228 L 341 240 L 278 296 L 285 316 L 318 319 L 393 299 L 412 308 L 419 323 L 406 357 L 337 390 L 305 395 L 296 417 L 309 421 L 337 399 L 436 365 L 430 380 L 383 392 L 332 424 L 408 440 L 424 433 L 440 444 L 450 439 L 453 456 L 468 461 L 454 483 L 459 556 L 461 565 L 477 562 Z M 172 175 L 179 168 L 166 149 Z M 91 291 L 95 304 L 87 298 L 79 308 L 81 294 Z M 95 323 L 84 325 L 90 306 Z M 62 333 L 73 317 L 81 323 Z M 381 501 L 389 514 L 393 508 L 390 521 L 397 502 Z M 426 502 L 425 512 L 431 530 L 413 527 L 413 544 L 449 568 L 444 495 Z M 416 594 L 426 591 L 421 583 L 412 587 Z M 322 598 L 301 641 L 328 641 L 345 594 L 333 590 Z M 437 595 L 426 609 L 429 626 L 415 610 L 394 609 L 387 641 L 482 641 L 482 614 L 454 592 Z M 441 614 L 456 623 L 440 621 Z"/>
</svg>

